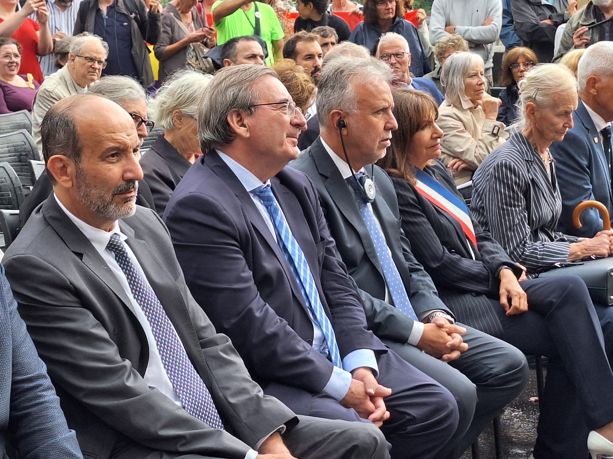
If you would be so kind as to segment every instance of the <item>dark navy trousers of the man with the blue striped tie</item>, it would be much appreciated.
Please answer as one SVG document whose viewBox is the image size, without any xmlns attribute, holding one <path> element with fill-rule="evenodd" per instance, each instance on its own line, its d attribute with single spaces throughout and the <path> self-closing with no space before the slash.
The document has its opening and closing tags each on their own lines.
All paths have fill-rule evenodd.
<svg viewBox="0 0 613 459">
<path fill-rule="evenodd" d="M 385 398 L 390 418 L 381 427 L 392 446 L 392 459 L 435 457 L 458 427 L 458 408 L 453 395 L 394 351 L 379 356 L 378 365 L 377 381 L 392 389 L 392 395 Z M 267 386 L 264 392 L 283 401 L 297 414 L 362 420 L 354 409 L 345 408 L 324 394 L 305 394 L 295 387 L 279 385 Z M 308 403 L 304 402 L 305 395 Z"/>
</svg>

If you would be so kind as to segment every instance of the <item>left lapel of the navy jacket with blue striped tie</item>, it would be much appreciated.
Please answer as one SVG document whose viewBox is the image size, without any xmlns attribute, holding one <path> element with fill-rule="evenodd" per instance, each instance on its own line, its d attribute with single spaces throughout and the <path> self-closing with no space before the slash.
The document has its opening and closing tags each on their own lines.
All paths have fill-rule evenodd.
<svg viewBox="0 0 613 459">
<path fill-rule="evenodd" d="M 298 286 L 298 283 L 296 282 L 294 274 L 292 274 L 289 268 L 289 264 L 287 264 L 287 260 L 285 259 L 283 252 L 281 252 L 281 248 L 276 243 L 275 237 L 270 232 L 270 228 L 268 228 L 268 225 L 266 224 L 266 222 L 264 222 L 264 217 L 262 217 L 262 214 L 257 209 L 256 204 L 251 199 L 251 195 L 249 195 L 247 190 L 245 190 L 243 184 L 237 179 L 234 173 L 232 173 L 232 170 L 230 170 L 230 168 L 226 165 L 226 163 L 223 162 L 223 160 L 216 152 L 208 153 L 205 156 L 204 160 L 205 163 L 210 166 L 211 170 L 213 170 L 213 172 L 215 172 L 219 177 L 221 177 L 221 179 L 223 179 L 223 181 L 230 187 L 232 192 L 234 192 L 234 195 L 241 203 L 246 219 L 251 224 L 251 226 L 253 226 L 254 230 L 256 230 L 256 232 L 259 233 L 260 236 L 262 236 L 262 238 L 268 245 L 268 248 L 270 248 L 270 250 L 272 250 L 272 252 L 275 254 L 276 259 L 281 264 L 283 272 L 287 277 L 287 282 L 289 282 L 289 285 L 291 285 L 294 296 L 297 297 L 302 307 L 305 308 L 305 310 L 307 310 L 308 312 L 307 304 L 305 303 L 305 299 L 300 292 L 300 288 Z M 276 183 L 278 183 L 278 180 L 276 181 Z M 283 193 L 278 194 L 282 195 Z M 275 198 L 277 198 L 277 200 L 279 199 L 277 194 L 275 194 Z M 300 204 L 298 204 L 297 202 L 295 203 L 295 205 L 300 208 Z M 286 208 L 289 207 L 286 206 Z M 283 213 L 285 213 L 285 209 L 283 207 L 282 209 Z"/>
</svg>

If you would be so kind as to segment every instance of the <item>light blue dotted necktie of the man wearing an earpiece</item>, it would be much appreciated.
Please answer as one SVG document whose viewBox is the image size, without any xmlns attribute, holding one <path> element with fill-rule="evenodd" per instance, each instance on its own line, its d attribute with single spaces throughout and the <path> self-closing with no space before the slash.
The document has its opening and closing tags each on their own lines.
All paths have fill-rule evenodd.
<svg viewBox="0 0 613 459">
<path fill-rule="evenodd" d="M 357 179 L 360 179 L 360 177 L 363 175 L 365 175 L 363 172 L 359 172 L 356 174 L 356 177 Z M 352 180 L 349 180 L 349 184 L 351 184 L 352 187 L 355 187 Z M 359 193 L 357 193 L 357 196 L 360 214 L 362 214 L 362 218 L 364 218 L 364 223 L 366 223 L 368 233 L 370 233 L 370 239 L 373 241 L 373 245 L 375 245 L 377 257 L 379 258 L 379 264 L 381 264 L 381 269 L 383 269 L 385 282 L 387 284 L 387 288 L 389 289 L 390 296 L 394 301 L 394 305 L 411 319 L 417 321 L 419 319 L 417 319 L 413 306 L 411 306 L 411 300 L 409 300 L 409 296 L 406 294 L 405 284 L 402 282 L 402 277 L 400 277 L 400 273 L 398 272 L 398 268 L 394 263 L 392 254 L 387 247 L 385 237 L 381 233 L 381 230 L 379 230 L 373 209 L 371 206 L 368 206 L 368 203 L 362 199 Z"/>
</svg>

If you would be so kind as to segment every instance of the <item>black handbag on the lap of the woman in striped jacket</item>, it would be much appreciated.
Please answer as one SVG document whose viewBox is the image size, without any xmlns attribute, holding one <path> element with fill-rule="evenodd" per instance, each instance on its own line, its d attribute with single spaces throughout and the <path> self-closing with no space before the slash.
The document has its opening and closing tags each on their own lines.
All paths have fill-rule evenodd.
<svg viewBox="0 0 613 459">
<path fill-rule="evenodd" d="M 580 263 L 564 263 L 563 267 L 542 272 L 539 278 L 563 275 L 581 277 L 592 301 L 601 305 L 613 305 L 613 258 L 598 258 Z"/>
</svg>

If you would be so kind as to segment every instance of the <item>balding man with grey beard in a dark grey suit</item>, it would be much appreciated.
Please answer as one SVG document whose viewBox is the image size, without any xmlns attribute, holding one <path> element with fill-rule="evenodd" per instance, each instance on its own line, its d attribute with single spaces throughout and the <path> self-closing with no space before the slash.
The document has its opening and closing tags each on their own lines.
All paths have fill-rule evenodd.
<svg viewBox="0 0 613 459">
<path fill-rule="evenodd" d="M 61 100 L 42 139 L 53 195 L 3 261 L 83 456 L 387 459 L 375 426 L 265 397 L 215 332 L 160 218 L 135 205 L 140 141 L 121 106 Z"/>
</svg>

